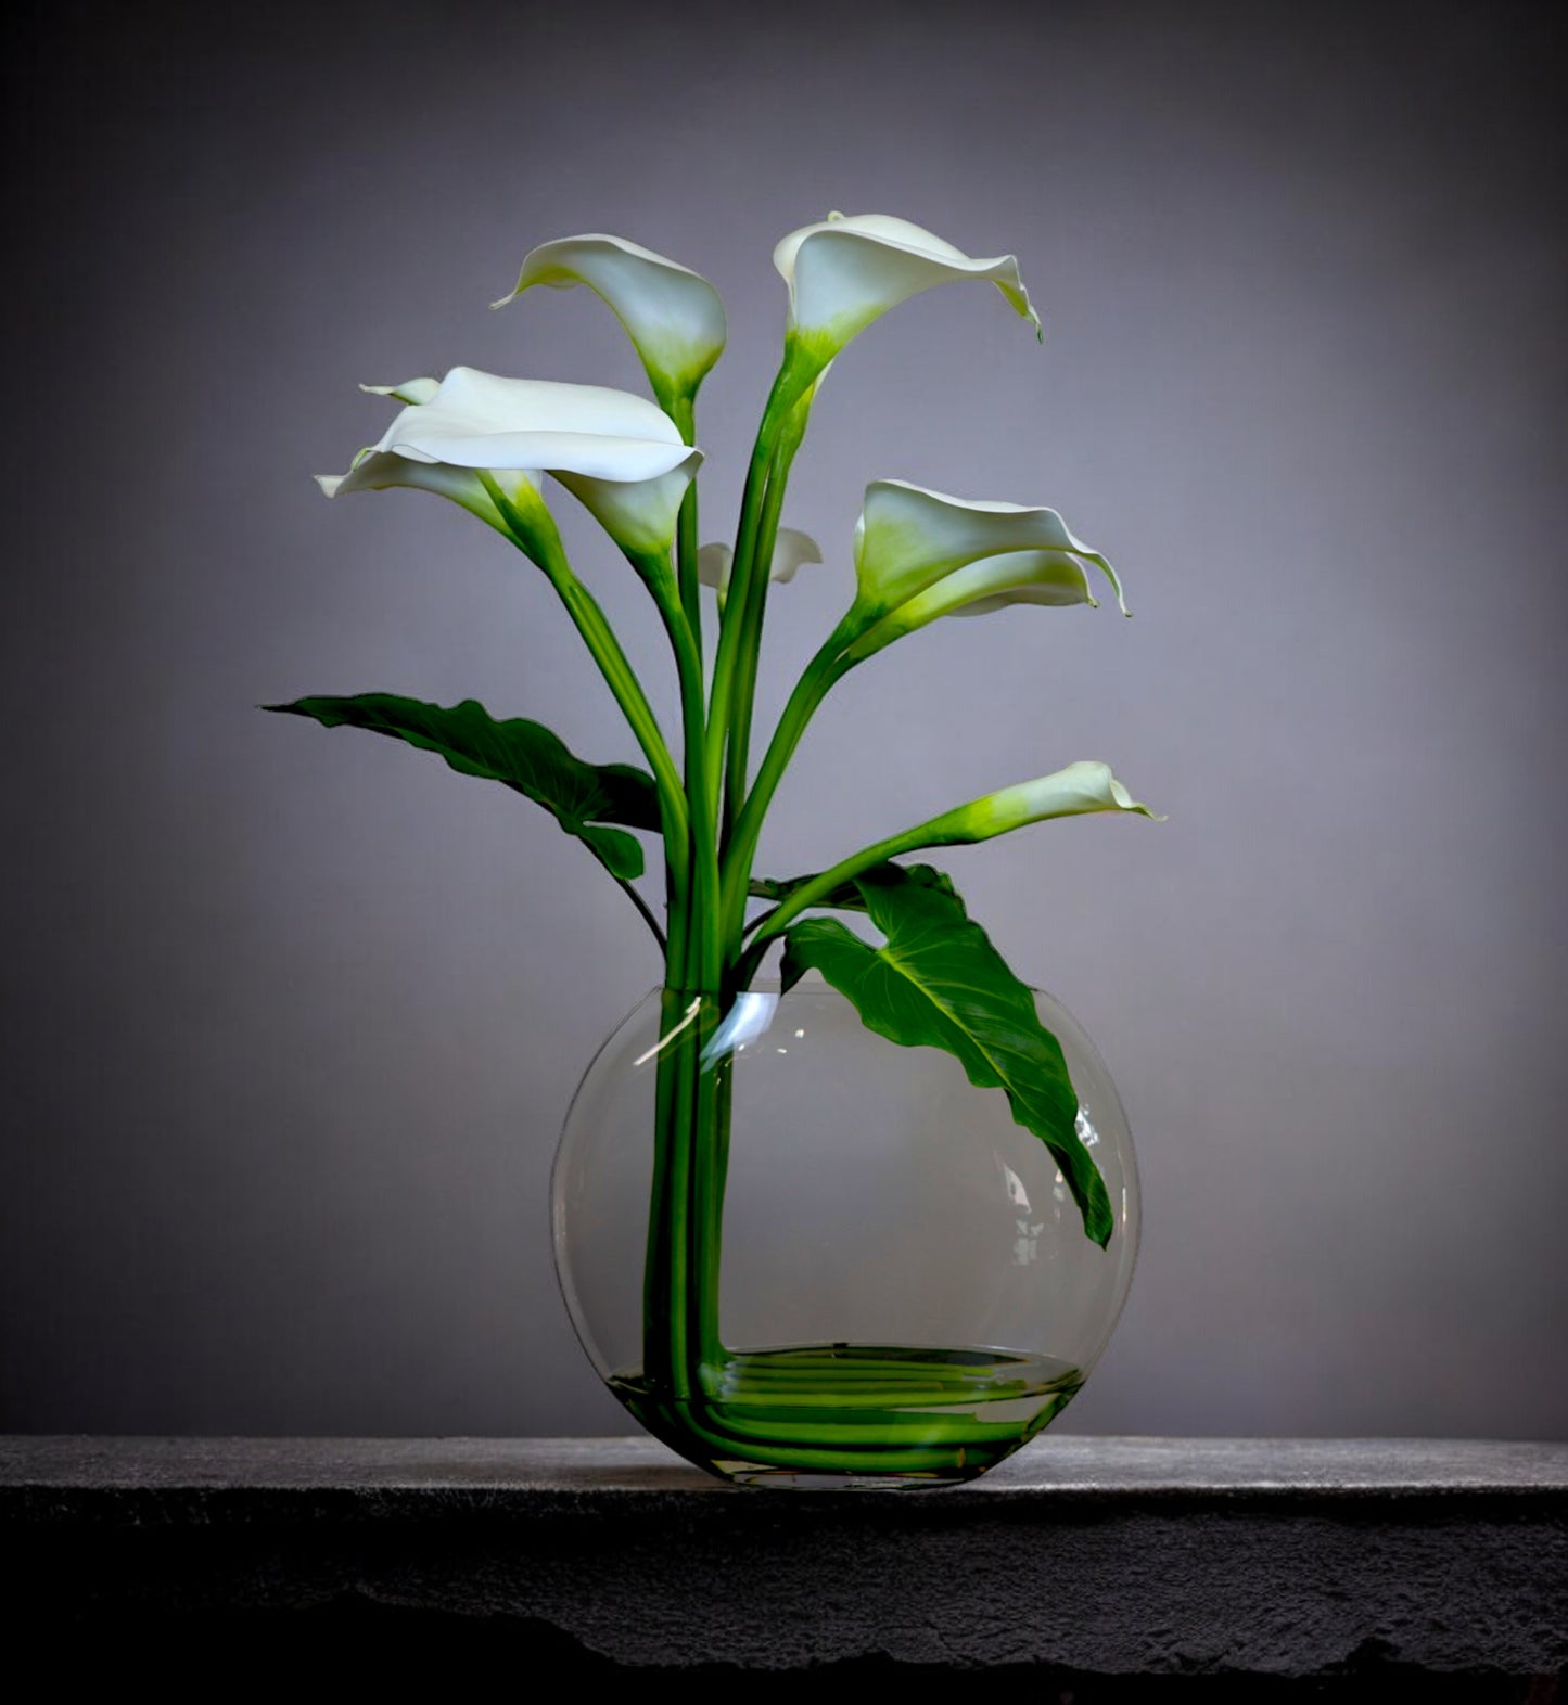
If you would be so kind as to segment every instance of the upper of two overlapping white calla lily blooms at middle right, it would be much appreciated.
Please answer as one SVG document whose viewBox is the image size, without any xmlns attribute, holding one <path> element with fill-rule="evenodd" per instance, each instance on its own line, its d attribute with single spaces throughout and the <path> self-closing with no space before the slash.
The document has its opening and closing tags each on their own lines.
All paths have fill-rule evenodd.
<svg viewBox="0 0 1568 1705">
<path fill-rule="evenodd" d="M 1116 569 L 1099 551 L 1075 539 L 1056 510 L 971 501 L 903 479 L 877 479 L 865 488 L 865 506 L 855 527 L 855 634 L 863 634 L 947 575 L 1013 551 L 1068 552 L 1094 563 L 1126 612 Z"/>
</svg>

